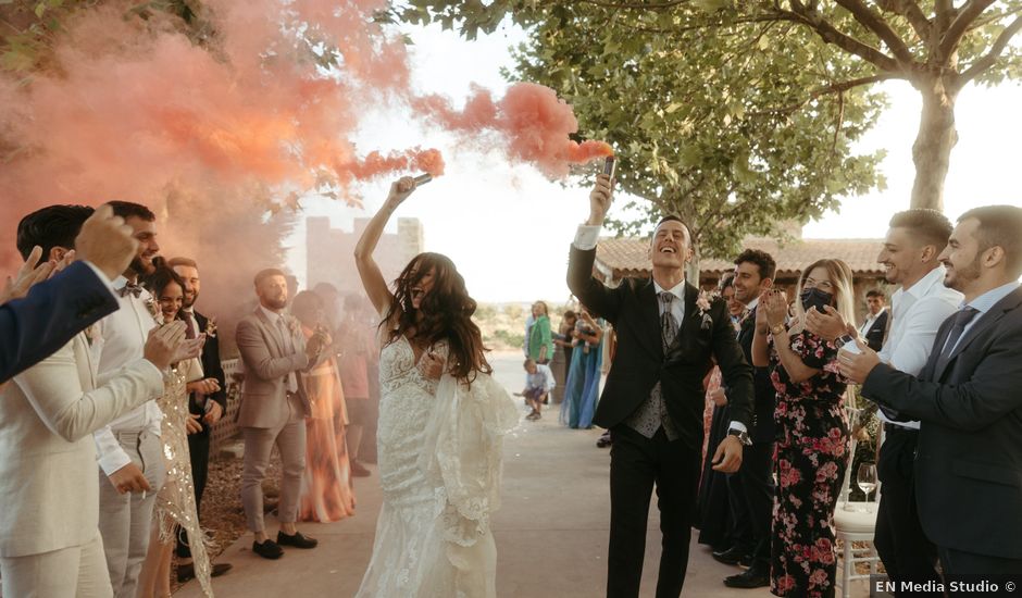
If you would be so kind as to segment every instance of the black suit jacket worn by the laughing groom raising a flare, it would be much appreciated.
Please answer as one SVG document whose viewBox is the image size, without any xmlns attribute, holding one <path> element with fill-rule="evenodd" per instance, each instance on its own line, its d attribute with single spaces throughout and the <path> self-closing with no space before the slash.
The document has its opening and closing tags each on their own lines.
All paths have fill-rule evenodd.
<svg viewBox="0 0 1022 598">
<path fill-rule="evenodd" d="M 698 291 L 685 285 L 685 317 L 666 354 L 660 333 L 660 309 L 651 279 L 627 279 L 608 288 L 593 277 L 596 250 L 571 249 L 568 286 L 586 308 L 614 326 L 618 349 L 594 422 L 611 428 L 626 420 L 659 381 L 663 399 L 681 439 L 702 450 L 702 379 L 715 357 L 730 388 L 733 421 L 749 426 L 752 419 L 752 369 L 745 362 L 735 328 L 723 301 L 700 314 Z"/>
</svg>

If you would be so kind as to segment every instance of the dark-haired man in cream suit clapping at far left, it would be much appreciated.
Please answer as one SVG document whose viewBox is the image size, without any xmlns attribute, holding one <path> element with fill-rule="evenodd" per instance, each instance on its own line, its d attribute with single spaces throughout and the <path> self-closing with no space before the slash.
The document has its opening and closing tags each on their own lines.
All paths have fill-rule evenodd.
<svg viewBox="0 0 1022 598">
<path fill-rule="evenodd" d="M 74 247 L 91 212 L 80 205 L 35 212 L 18 225 L 18 248 L 27 257 L 38 245 L 47 259 L 60 260 Z M 103 215 L 109 217 L 110 210 Z M 115 240 L 90 248 L 101 253 L 87 257 L 108 284 L 134 254 L 133 244 L 121 244 L 127 249 L 124 259 L 113 256 L 120 251 L 110 244 Z M 86 247 L 80 249 L 86 257 Z M 97 385 L 97 363 L 89 354 L 86 331 L 3 389 L 0 575 L 5 595 L 113 595 L 99 534 L 99 479 L 91 435 L 163 391 L 161 370 L 184 340 L 184 323 L 153 331 L 142 358 Z"/>
</svg>

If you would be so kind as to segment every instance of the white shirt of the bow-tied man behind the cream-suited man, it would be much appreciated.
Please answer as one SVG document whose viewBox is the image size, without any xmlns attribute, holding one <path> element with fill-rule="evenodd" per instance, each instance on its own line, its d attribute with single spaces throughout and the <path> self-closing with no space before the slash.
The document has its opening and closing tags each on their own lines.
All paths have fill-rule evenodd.
<svg viewBox="0 0 1022 598">
<path fill-rule="evenodd" d="M 127 278 L 119 276 L 113 282 L 115 291 L 120 291 L 127 284 Z M 123 365 L 142 359 L 149 331 L 157 327 L 155 316 L 146 307 L 150 302 L 153 309 L 158 304 L 149 291 L 142 290 L 138 297 L 127 294 L 117 295 L 121 308 L 100 320 L 97 334 L 92 340 L 90 351 L 96 363 L 97 385 L 102 386 Z M 132 459 L 121 448 L 117 441 L 117 432 L 150 432 L 160 435 L 160 420 L 163 412 L 155 401 L 148 401 L 124 415 L 117 418 L 110 425 L 97 429 L 92 437 L 96 439 L 96 452 L 99 466 L 107 475 L 111 475 L 132 462 Z"/>
</svg>

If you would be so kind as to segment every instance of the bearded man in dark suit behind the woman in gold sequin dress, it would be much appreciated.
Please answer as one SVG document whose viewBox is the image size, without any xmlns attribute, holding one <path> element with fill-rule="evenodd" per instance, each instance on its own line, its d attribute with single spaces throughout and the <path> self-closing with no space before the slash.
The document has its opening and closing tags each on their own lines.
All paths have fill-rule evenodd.
<svg viewBox="0 0 1022 598">
<path fill-rule="evenodd" d="M 190 258 L 174 258 L 167 265 L 180 276 L 185 283 L 185 297 L 178 317 L 185 321 L 188 338 L 196 338 L 205 333 L 205 345 L 202 346 L 202 375 L 203 378 L 189 384 L 188 412 L 192 422 L 189 423 L 188 451 L 191 457 L 191 479 L 196 489 L 196 508 L 201 513 L 202 493 L 205 491 L 205 481 L 210 471 L 210 440 L 213 426 L 220 422 L 227 412 L 227 388 L 224 379 L 224 367 L 220 360 L 220 340 L 216 338 L 216 326 L 210 319 L 195 309 L 199 298 L 201 279 L 199 278 L 199 264 Z M 191 565 L 191 550 L 188 548 L 188 534 L 184 528 L 177 534 L 177 581 L 187 582 L 195 577 Z M 229 563 L 215 563 L 212 576 L 223 575 L 230 570 Z"/>
</svg>

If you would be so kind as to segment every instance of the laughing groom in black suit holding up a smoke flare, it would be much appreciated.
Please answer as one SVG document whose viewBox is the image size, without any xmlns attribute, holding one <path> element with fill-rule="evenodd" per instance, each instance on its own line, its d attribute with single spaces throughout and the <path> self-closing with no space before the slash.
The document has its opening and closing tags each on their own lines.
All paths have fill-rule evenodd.
<svg viewBox="0 0 1022 598">
<path fill-rule="evenodd" d="M 599 175 L 589 220 L 571 249 L 568 286 L 589 312 L 613 324 L 618 350 L 594 422 L 611 431 L 608 598 L 637 598 L 646 524 L 656 484 L 663 534 L 657 598 L 682 593 L 702 452 L 702 381 L 715 358 L 728 387 L 731 434 L 716 448 L 714 469 L 737 471 L 752 412 L 752 369 L 735 339 L 723 301 L 699 300 L 685 282 L 691 259 L 688 227 L 676 216 L 658 225 L 650 242 L 652 279 L 608 288 L 593 277 L 596 242 L 611 201 L 611 179 Z M 712 449 L 712 447 L 711 447 Z"/>
</svg>

